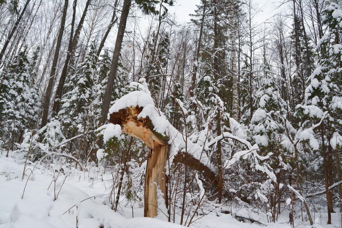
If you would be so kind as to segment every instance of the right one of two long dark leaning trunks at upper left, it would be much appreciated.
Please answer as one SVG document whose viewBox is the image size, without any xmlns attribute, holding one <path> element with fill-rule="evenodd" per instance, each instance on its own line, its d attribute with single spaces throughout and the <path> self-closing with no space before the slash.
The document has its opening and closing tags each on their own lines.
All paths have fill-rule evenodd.
<svg viewBox="0 0 342 228">
<path fill-rule="evenodd" d="M 71 42 L 71 45 L 68 46 L 68 53 L 66 55 L 64 67 L 63 67 L 63 70 L 62 70 L 60 81 L 58 82 L 58 86 L 57 86 L 57 90 L 56 90 L 56 94 L 55 94 L 55 100 L 54 100 L 53 107 L 52 107 L 52 110 L 55 113 L 58 113 L 58 111 L 60 109 L 60 99 L 62 98 L 62 95 L 63 95 L 63 87 L 64 87 L 65 79 L 66 79 L 66 76 L 67 76 L 67 73 L 68 73 L 69 61 L 70 61 L 70 58 L 72 56 L 74 56 L 74 52 L 75 52 L 75 49 L 76 49 L 78 38 L 80 36 L 81 29 L 82 29 L 83 22 L 84 22 L 84 18 L 86 17 L 86 14 L 87 14 L 87 11 L 88 11 L 88 6 L 89 6 L 90 2 L 91 2 L 91 0 L 87 0 L 86 6 L 84 7 L 83 14 L 82 14 L 81 19 L 80 19 L 80 22 L 78 23 L 78 26 L 77 26 L 77 28 L 75 30 L 75 35 L 73 37 L 73 42 Z"/>
</svg>

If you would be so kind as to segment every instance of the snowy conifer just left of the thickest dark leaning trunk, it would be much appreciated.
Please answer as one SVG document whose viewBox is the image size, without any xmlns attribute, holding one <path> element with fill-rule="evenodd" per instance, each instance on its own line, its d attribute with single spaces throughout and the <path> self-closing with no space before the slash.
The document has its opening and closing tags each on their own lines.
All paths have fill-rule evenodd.
<svg viewBox="0 0 342 228">
<path fill-rule="evenodd" d="M 62 106 L 58 112 L 63 134 L 67 138 L 74 137 L 77 132 L 86 133 L 96 128 L 97 119 L 92 106 L 97 77 L 96 50 L 96 45 L 92 43 L 84 61 L 74 66 L 67 77 L 68 83 L 64 87 Z M 70 149 L 71 145 L 70 143 Z"/>
</svg>

